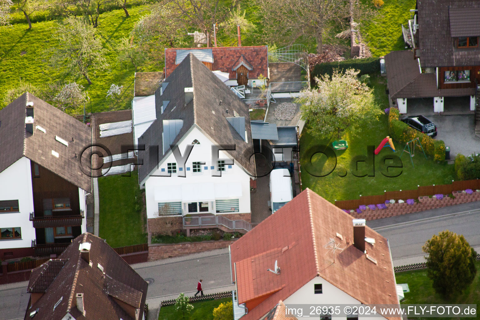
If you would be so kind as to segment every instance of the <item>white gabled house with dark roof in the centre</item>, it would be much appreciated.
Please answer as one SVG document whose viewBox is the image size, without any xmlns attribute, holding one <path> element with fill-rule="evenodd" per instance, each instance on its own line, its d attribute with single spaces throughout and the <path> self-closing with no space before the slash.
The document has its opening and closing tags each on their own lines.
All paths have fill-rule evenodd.
<svg viewBox="0 0 480 320">
<path fill-rule="evenodd" d="M 144 125 L 145 121 L 135 117 L 148 113 L 147 109 L 133 104 L 134 124 Z M 255 176 L 255 163 L 245 103 L 189 54 L 156 90 L 155 114 L 146 130 L 134 128 L 141 134 L 135 137 L 136 143 L 145 146 L 138 152 L 143 160 L 139 183 L 145 188 L 149 224 L 150 219 L 164 215 L 188 215 L 191 219 L 183 219 L 187 229 L 207 221 L 216 224 L 216 215 L 231 220 L 225 224 L 250 222 L 250 179 Z M 178 145 L 177 156 L 170 145 Z M 215 145 L 223 146 L 218 149 L 234 146 L 234 150 L 218 151 L 215 160 Z M 182 166 L 180 154 L 188 153 L 187 146 L 191 153 Z M 155 232 L 151 225 L 149 231 Z"/>
</svg>

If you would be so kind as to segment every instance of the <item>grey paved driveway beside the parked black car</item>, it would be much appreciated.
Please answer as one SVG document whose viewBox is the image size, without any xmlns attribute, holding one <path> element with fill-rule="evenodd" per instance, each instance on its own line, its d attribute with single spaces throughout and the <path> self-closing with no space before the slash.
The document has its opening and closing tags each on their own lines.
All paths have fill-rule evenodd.
<svg viewBox="0 0 480 320">
<path fill-rule="evenodd" d="M 470 155 L 480 152 L 480 139 L 475 136 L 474 115 L 429 116 L 437 125 L 436 139 L 450 147 L 450 158 L 460 153 Z"/>
</svg>

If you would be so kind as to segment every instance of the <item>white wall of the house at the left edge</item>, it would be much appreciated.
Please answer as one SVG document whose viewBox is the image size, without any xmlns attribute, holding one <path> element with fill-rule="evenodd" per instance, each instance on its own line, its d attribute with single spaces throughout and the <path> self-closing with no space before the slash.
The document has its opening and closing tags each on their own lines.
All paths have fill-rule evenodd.
<svg viewBox="0 0 480 320">
<path fill-rule="evenodd" d="M 21 240 L 0 240 L 0 249 L 27 248 L 35 239 L 29 220 L 34 211 L 30 160 L 22 157 L 0 173 L 0 200 L 18 200 L 17 213 L 0 213 L 0 228 L 22 228 Z"/>
</svg>

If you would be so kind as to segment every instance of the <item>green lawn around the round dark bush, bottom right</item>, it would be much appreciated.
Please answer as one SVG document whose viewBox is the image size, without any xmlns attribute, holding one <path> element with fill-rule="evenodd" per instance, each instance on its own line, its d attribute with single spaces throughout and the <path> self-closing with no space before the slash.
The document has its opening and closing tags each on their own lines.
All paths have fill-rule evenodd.
<svg viewBox="0 0 480 320">
<path fill-rule="evenodd" d="M 405 293 L 405 300 L 402 304 L 444 304 L 444 303 L 456 303 L 456 304 L 477 304 L 480 305 L 480 262 L 476 262 L 477 275 L 473 280 L 473 283 L 459 296 L 449 298 L 445 300 L 442 296 L 435 293 L 432 288 L 432 280 L 427 277 L 427 270 L 415 270 L 396 273 L 397 284 L 408 284 L 410 292 Z M 423 319 L 423 318 L 418 318 Z M 437 318 L 425 318 L 425 319 L 437 319 Z M 448 320 L 450 318 L 438 318 Z M 458 318 L 456 318 L 458 319 Z"/>
</svg>

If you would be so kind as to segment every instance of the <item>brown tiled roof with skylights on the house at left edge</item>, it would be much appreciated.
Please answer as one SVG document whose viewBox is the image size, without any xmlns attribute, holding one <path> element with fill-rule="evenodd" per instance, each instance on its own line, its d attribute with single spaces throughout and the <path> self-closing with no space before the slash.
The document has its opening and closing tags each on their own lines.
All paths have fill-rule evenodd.
<svg viewBox="0 0 480 320">
<path fill-rule="evenodd" d="M 34 103 L 33 134 L 25 130 L 27 102 Z M 84 148 L 92 144 L 89 127 L 29 93 L 1 109 L 0 121 L 0 146 L 8 150 L 0 153 L 0 172 L 25 156 L 73 185 L 91 191 L 91 178 L 82 172 L 78 162 Z M 66 140 L 68 147 L 56 141 L 56 135 Z M 52 150 L 59 153 L 58 158 Z"/>
</svg>

